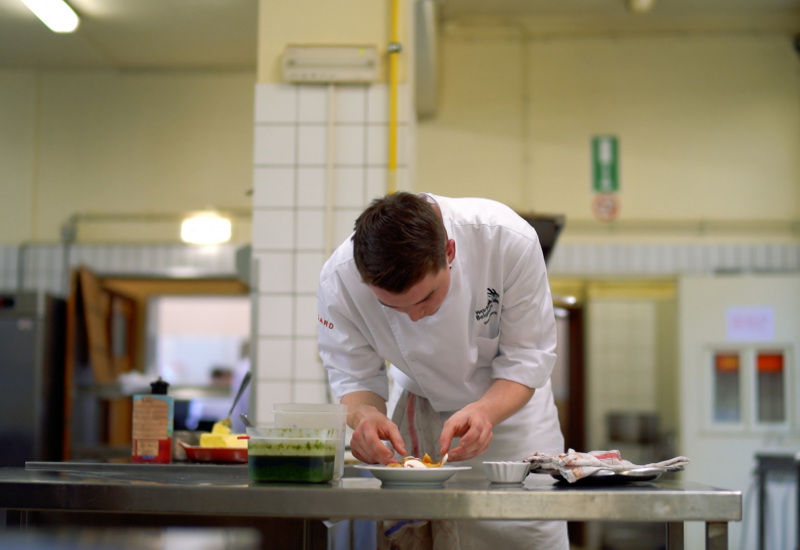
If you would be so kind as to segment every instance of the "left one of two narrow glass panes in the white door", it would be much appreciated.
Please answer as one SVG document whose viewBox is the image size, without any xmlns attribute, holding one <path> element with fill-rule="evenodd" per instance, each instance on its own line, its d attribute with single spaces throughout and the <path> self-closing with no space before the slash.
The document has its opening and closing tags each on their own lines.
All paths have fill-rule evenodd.
<svg viewBox="0 0 800 550">
<path fill-rule="evenodd" d="M 740 350 L 714 350 L 711 354 L 712 423 L 737 426 L 742 423 L 742 353 Z"/>
</svg>

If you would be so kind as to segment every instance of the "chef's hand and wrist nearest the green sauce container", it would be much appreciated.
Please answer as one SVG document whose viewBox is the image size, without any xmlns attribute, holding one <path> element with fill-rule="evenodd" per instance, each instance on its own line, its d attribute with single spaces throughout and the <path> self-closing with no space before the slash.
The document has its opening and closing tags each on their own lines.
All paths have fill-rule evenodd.
<svg viewBox="0 0 800 550">
<path fill-rule="evenodd" d="M 353 428 L 350 450 L 367 464 L 398 462 L 392 450 L 384 445 L 388 440 L 401 455 L 406 455 L 403 438 L 394 422 L 386 416 L 386 402 L 372 392 L 354 392 L 342 397 L 347 405 L 347 423 Z"/>
</svg>

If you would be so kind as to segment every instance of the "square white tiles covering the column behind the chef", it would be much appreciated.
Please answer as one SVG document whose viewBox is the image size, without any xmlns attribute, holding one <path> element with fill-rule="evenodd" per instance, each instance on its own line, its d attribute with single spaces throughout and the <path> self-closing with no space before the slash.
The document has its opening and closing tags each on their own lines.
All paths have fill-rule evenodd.
<svg viewBox="0 0 800 550">
<path fill-rule="evenodd" d="M 400 89 L 397 188 L 410 187 L 413 125 Z M 254 409 L 325 403 L 316 291 L 331 246 L 387 191 L 388 87 L 256 86 L 253 191 Z M 329 135 L 332 133 L 332 135 Z M 332 141 L 331 141 L 332 140 Z"/>
</svg>

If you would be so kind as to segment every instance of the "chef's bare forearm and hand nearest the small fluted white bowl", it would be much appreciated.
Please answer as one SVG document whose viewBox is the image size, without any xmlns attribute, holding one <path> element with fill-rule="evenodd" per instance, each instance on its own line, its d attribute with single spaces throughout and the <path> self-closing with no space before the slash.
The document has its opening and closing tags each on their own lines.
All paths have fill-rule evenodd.
<svg viewBox="0 0 800 550">
<path fill-rule="evenodd" d="M 495 380 L 480 399 L 444 423 L 439 453 L 448 453 L 449 460 L 466 460 L 484 453 L 494 437 L 492 428 L 524 407 L 533 393 L 533 388 L 517 382 Z M 457 436 L 461 437 L 458 447 L 449 450 Z"/>
</svg>

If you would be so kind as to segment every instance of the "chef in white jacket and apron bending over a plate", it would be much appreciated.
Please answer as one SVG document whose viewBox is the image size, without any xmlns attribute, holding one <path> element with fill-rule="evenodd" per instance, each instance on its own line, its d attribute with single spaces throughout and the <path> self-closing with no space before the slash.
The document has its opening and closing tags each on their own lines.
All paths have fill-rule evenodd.
<svg viewBox="0 0 800 550">
<path fill-rule="evenodd" d="M 544 257 L 534 229 L 510 208 L 404 192 L 377 199 L 325 263 L 317 298 L 319 353 L 348 405 L 359 460 L 447 453 L 473 467 L 457 474 L 463 479 L 482 476 L 484 460 L 564 451 Z M 383 546 L 395 536 L 404 548 L 402 530 L 384 527 Z M 565 522 L 429 528 L 436 548 L 569 547 Z M 418 547 L 412 539 L 418 533 L 406 546 Z"/>
</svg>

